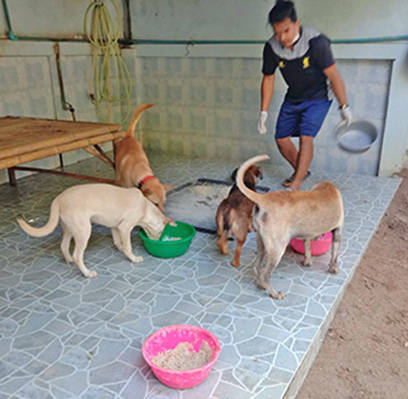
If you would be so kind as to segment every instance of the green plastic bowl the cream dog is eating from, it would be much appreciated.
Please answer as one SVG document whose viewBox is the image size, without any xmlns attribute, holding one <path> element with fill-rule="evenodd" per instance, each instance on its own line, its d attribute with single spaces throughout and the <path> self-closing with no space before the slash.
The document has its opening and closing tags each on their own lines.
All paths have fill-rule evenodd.
<svg viewBox="0 0 408 399">
<path fill-rule="evenodd" d="M 177 226 L 167 224 L 159 240 L 152 240 L 141 229 L 139 236 L 147 252 L 158 258 L 175 258 L 185 254 L 196 235 L 196 230 L 188 223 L 179 221 L 176 221 L 176 223 Z M 172 240 L 172 238 L 180 239 Z"/>
</svg>

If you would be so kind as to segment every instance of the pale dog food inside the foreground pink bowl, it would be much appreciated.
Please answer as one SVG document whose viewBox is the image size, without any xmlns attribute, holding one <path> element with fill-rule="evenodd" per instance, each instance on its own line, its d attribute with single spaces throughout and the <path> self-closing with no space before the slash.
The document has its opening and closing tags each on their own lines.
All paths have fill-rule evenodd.
<svg viewBox="0 0 408 399">
<path fill-rule="evenodd" d="M 206 341 L 195 352 L 189 342 L 181 342 L 174 349 L 161 353 L 152 358 L 152 362 L 168 370 L 191 370 L 207 364 L 212 357 L 213 350 Z"/>
</svg>

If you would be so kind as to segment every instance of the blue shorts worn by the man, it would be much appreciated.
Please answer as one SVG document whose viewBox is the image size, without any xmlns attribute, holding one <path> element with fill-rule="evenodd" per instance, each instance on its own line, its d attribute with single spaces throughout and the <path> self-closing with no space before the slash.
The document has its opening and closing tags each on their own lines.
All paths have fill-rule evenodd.
<svg viewBox="0 0 408 399">
<path fill-rule="evenodd" d="M 319 132 L 329 112 L 331 100 L 310 100 L 299 104 L 285 101 L 276 123 L 275 138 L 313 136 Z"/>
</svg>

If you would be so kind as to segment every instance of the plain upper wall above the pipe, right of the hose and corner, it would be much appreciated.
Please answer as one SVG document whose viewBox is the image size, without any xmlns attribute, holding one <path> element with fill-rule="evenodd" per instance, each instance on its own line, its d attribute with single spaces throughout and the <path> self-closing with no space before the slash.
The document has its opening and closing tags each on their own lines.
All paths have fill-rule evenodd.
<svg viewBox="0 0 408 399">
<path fill-rule="evenodd" d="M 132 27 L 136 38 L 264 40 L 273 4 L 270 0 L 131 1 Z M 408 33 L 405 0 L 297 0 L 295 5 L 301 21 L 333 39 Z"/>
</svg>

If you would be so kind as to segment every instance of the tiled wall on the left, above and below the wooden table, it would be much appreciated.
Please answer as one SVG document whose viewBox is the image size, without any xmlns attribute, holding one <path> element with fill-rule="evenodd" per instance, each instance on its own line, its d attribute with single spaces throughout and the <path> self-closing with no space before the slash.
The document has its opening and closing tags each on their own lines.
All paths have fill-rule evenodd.
<svg viewBox="0 0 408 399">
<path fill-rule="evenodd" d="M 89 101 L 89 79 L 92 59 L 89 56 L 61 57 L 66 100 L 75 108 L 76 119 L 98 121 L 95 106 Z M 0 116 L 26 116 L 72 120 L 64 110 L 54 56 L 0 56 Z M 113 107 L 113 121 L 120 121 L 121 106 Z M 110 150 L 110 143 L 104 144 Z M 89 157 L 84 150 L 64 154 L 64 164 Z M 55 168 L 58 157 L 34 161 L 30 166 Z M 18 177 L 27 172 L 18 172 Z M 6 181 L 6 171 L 0 170 L 0 183 Z"/>
</svg>

